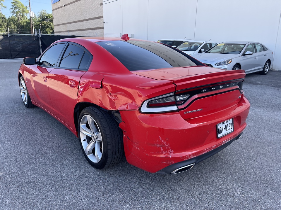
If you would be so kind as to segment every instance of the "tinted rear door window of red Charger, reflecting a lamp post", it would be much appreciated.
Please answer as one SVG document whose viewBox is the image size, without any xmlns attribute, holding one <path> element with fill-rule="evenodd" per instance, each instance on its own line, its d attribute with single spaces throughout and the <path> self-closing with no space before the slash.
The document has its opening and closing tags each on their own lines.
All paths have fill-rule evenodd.
<svg viewBox="0 0 281 210">
<path fill-rule="evenodd" d="M 59 65 L 59 67 L 78 69 L 84 52 L 85 51 L 82 48 L 76 45 L 68 45 L 66 51 L 64 52 L 64 55 L 62 56 L 61 64 Z"/>
</svg>

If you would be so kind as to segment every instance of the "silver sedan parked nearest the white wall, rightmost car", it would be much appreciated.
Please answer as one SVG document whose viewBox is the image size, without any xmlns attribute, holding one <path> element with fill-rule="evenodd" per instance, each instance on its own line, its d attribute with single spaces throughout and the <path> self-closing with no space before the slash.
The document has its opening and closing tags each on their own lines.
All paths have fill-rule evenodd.
<svg viewBox="0 0 281 210">
<path fill-rule="evenodd" d="M 220 69 L 244 69 L 246 74 L 259 71 L 267 74 L 273 51 L 258 42 L 223 42 L 205 53 L 194 56 L 207 66 Z"/>
</svg>

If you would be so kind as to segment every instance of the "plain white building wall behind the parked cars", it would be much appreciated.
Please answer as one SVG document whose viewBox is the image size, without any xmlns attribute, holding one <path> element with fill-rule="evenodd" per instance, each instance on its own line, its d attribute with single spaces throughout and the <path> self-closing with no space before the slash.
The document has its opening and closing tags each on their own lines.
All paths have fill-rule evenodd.
<svg viewBox="0 0 281 210">
<path fill-rule="evenodd" d="M 280 0 L 104 0 L 103 11 L 105 35 L 257 41 L 274 51 L 271 67 L 281 70 Z"/>
</svg>

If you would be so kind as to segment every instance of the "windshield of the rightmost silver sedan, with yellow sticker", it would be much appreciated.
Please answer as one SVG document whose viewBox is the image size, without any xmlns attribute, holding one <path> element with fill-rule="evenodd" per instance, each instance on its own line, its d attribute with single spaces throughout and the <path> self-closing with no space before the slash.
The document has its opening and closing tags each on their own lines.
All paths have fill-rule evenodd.
<svg viewBox="0 0 281 210">
<path fill-rule="evenodd" d="M 220 43 L 206 53 L 240 54 L 244 47 L 244 44 Z"/>
</svg>

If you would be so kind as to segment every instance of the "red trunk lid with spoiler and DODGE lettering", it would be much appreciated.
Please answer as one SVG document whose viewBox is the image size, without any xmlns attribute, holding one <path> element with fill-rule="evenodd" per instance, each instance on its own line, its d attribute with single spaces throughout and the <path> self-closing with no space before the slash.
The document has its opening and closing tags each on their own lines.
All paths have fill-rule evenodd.
<svg viewBox="0 0 281 210">
<path fill-rule="evenodd" d="M 205 66 L 133 73 L 155 80 L 172 81 L 176 85 L 176 96 L 190 95 L 181 104 L 177 101 L 179 113 L 185 120 L 215 113 L 219 116 L 220 112 L 227 115 L 227 112 L 231 112 L 241 101 L 242 82 L 246 75 L 244 70 L 224 70 Z"/>
</svg>

